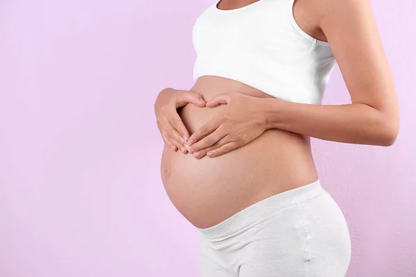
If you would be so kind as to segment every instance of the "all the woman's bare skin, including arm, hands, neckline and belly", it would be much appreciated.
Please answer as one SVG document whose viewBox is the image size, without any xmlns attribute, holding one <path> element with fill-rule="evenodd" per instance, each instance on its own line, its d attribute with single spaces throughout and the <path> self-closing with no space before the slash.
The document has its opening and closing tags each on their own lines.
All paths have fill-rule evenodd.
<svg viewBox="0 0 416 277">
<path fill-rule="evenodd" d="M 241 8 L 253 2 L 223 0 L 218 8 Z M 157 96 L 157 126 L 166 143 L 162 182 L 171 202 L 193 225 L 214 226 L 262 199 L 316 181 L 311 136 L 348 143 L 394 143 L 399 128 L 397 99 L 371 23 L 374 18 L 358 1 L 312 2 L 296 0 L 295 19 L 306 33 L 331 44 L 351 105 L 286 102 L 213 75 L 198 78 L 189 91 L 168 88 Z M 206 102 L 197 102 L 199 97 Z M 210 146 L 192 149 L 202 141 Z M 216 159 L 205 154 L 209 148 L 217 151 L 211 156 Z M 196 152 L 202 155 L 198 158 Z"/>
</svg>

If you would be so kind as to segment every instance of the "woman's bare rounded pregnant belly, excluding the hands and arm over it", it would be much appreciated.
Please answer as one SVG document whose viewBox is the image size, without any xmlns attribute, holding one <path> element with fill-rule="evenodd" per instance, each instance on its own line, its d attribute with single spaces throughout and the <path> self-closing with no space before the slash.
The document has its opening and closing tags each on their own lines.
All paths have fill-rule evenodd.
<svg viewBox="0 0 416 277">
<path fill-rule="evenodd" d="M 210 100 L 217 93 L 272 96 L 241 82 L 202 76 L 190 91 Z M 193 134 L 226 105 L 193 104 L 178 109 Z M 267 129 L 257 139 L 218 157 L 196 159 L 164 145 L 160 164 L 166 193 L 177 210 L 198 228 L 214 226 L 256 202 L 318 180 L 309 136 Z"/>
</svg>

